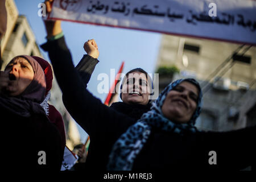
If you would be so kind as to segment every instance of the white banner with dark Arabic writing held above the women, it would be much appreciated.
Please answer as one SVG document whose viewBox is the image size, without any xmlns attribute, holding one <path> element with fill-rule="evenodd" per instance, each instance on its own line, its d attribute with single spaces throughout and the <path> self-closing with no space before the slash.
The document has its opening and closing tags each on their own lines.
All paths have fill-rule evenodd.
<svg viewBox="0 0 256 182">
<path fill-rule="evenodd" d="M 254 0 L 55 0 L 49 18 L 256 45 Z"/>
</svg>

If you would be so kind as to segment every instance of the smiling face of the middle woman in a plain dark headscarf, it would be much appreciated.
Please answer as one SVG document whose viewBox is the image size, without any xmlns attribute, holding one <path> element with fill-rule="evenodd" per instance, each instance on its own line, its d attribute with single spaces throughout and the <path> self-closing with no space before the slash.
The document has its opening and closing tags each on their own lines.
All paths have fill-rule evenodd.
<svg viewBox="0 0 256 182">
<path fill-rule="evenodd" d="M 148 103 L 150 95 L 150 87 L 147 77 L 141 72 L 131 72 L 123 82 L 122 100 L 126 104 L 142 104 Z"/>
</svg>

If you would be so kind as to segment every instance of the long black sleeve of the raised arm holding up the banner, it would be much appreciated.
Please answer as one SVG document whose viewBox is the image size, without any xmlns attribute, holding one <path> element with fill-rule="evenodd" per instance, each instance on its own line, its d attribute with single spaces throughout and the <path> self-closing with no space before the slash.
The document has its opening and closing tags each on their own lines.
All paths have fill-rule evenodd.
<svg viewBox="0 0 256 182">
<path fill-rule="evenodd" d="M 119 137 L 135 122 L 105 106 L 85 89 L 84 82 L 72 63 L 64 37 L 47 42 L 41 47 L 48 51 L 57 82 L 65 97 L 65 107 L 92 139 L 97 134 L 114 134 Z"/>
</svg>

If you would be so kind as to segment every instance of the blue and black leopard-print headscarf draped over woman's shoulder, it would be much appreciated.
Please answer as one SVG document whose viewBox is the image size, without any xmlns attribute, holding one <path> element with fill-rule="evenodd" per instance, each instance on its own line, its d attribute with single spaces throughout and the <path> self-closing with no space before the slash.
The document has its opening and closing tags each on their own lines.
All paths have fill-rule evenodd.
<svg viewBox="0 0 256 182">
<path fill-rule="evenodd" d="M 199 89 L 199 98 L 197 107 L 192 118 L 187 123 L 175 123 L 164 117 L 162 106 L 167 94 L 183 81 L 191 82 Z M 199 83 L 192 79 L 181 79 L 172 82 L 162 93 L 157 100 L 152 103 L 151 110 L 143 114 L 133 126 L 130 126 L 126 133 L 115 142 L 112 152 L 109 155 L 108 170 L 129 171 L 133 168 L 134 159 L 142 150 L 144 144 L 151 133 L 152 128 L 158 128 L 163 131 L 170 131 L 184 135 L 185 133 L 196 133 L 197 129 L 194 126 L 196 118 L 199 117 L 201 111 L 202 92 Z"/>
</svg>

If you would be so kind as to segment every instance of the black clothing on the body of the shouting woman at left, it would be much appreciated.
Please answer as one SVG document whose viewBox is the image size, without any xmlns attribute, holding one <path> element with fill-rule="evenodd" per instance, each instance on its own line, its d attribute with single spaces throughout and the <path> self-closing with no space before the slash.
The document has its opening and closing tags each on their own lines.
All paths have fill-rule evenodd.
<svg viewBox="0 0 256 182">
<path fill-rule="evenodd" d="M 6 130 L 2 155 L 3 166 L 10 171 L 60 171 L 63 160 L 60 134 L 46 115 L 25 118 L 0 108 L 1 128 Z M 2 138 L 3 139 L 3 138 Z M 39 151 L 46 152 L 46 164 L 39 164 Z"/>
</svg>

